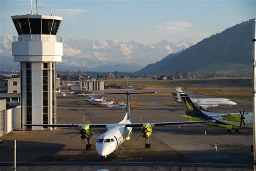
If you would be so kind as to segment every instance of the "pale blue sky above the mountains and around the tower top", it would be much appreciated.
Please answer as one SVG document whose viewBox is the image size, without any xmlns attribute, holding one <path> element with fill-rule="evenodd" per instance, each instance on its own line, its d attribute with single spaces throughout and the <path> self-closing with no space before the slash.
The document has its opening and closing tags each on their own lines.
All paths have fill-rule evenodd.
<svg viewBox="0 0 256 171">
<path fill-rule="evenodd" d="M 0 0 L 0 35 L 17 35 L 10 16 L 30 0 Z M 134 40 L 143 44 L 166 39 L 199 42 L 235 24 L 256 18 L 256 1 L 78 1 L 38 0 L 39 15 L 63 17 L 63 39 Z M 22 14 L 30 13 L 30 8 Z"/>
</svg>

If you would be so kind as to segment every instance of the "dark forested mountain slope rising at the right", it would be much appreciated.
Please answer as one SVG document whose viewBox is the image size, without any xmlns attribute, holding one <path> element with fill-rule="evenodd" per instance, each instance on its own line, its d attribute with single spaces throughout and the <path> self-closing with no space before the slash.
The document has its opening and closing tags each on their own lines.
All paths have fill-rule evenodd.
<svg viewBox="0 0 256 171">
<path fill-rule="evenodd" d="M 140 74 L 176 72 L 252 74 L 253 20 L 234 25 L 140 70 Z"/>
</svg>

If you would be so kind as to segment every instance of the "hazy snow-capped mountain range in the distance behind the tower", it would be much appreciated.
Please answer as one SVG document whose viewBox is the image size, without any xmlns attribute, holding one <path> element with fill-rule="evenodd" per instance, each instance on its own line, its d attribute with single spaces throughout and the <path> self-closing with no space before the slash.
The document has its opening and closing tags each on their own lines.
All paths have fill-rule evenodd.
<svg viewBox="0 0 256 171">
<path fill-rule="evenodd" d="M 11 56 L 12 37 L 3 35 L 0 37 L 0 56 Z M 130 41 L 128 43 L 117 40 L 90 40 L 90 39 L 68 39 L 63 41 L 63 62 L 58 63 L 59 69 L 65 70 L 111 70 L 110 66 L 122 65 L 122 70 L 134 72 L 143 66 L 155 63 L 170 53 L 178 52 L 193 45 L 181 40 L 178 44 L 162 40 L 157 44 L 144 45 Z M 134 65 L 133 65 L 134 64 Z M 6 67 L 6 66 L 5 66 Z M 0 65 L 0 70 L 2 66 Z M 119 70 L 120 68 L 118 68 Z M 120 70 L 121 71 L 121 70 Z"/>
</svg>

